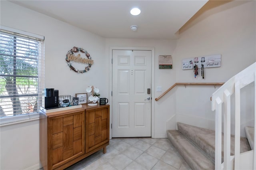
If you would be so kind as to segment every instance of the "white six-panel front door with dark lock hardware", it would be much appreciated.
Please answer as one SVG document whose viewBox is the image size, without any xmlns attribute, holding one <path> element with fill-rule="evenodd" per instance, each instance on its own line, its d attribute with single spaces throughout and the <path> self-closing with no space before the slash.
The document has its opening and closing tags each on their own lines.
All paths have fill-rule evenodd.
<svg viewBox="0 0 256 170">
<path fill-rule="evenodd" d="M 151 136 L 152 51 L 112 51 L 112 137 Z"/>
</svg>

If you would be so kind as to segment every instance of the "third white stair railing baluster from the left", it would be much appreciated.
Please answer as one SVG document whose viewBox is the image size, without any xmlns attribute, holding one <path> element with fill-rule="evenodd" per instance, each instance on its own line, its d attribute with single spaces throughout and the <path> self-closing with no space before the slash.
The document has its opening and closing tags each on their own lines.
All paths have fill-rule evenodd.
<svg viewBox="0 0 256 170">
<path fill-rule="evenodd" d="M 240 169 L 240 81 L 235 82 L 235 164 Z"/>
</svg>

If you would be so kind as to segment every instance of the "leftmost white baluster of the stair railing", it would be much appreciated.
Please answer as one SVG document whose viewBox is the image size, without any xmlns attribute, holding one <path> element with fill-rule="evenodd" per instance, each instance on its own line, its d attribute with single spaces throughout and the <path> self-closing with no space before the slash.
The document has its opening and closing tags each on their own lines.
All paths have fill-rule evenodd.
<svg viewBox="0 0 256 170">
<path fill-rule="evenodd" d="M 222 124 L 222 101 L 220 97 L 215 99 L 217 109 L 215 110 L 215 169 L 221 169 L 221 124 Z"/>
</svg>

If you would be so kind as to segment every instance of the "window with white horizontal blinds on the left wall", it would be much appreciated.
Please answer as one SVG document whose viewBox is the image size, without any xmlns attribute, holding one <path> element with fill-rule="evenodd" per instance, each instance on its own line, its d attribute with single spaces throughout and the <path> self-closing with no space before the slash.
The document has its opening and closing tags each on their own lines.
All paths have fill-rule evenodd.
<svg viewBox="0 0 256 170">
<path fill-rule="evenodd" d="M 44 38 L 2 28 L 0 124 L 36 118 L 42 106 L 44 88 Z"/>
</svg>

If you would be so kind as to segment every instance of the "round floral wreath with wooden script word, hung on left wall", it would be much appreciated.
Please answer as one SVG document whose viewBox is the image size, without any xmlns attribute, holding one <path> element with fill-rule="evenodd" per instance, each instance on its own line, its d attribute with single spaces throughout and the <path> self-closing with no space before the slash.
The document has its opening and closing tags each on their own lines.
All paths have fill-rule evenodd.
<svg viewBox="0 0 256 170">
<path fill-rule="evenodd" d="M 86 58 L 83 58 L 79 52 L 84 54 Z M 76 55 L 76 53 L 78 53 L 78 55 Z M 86 67 L 84 68 L 84 70 L 78 70 L 72 66 L 72 63 L 70 63 L 70 61 L 84 63 L 84 64 L 86 64 Z M 68 51 L 68 53 L 66 55 L 66 62 L 68 63 L 68 66 L 70 67 L 70 69 L 72 69 L 76 73 L 85 73 L 85 72 L 89 71 L 92 64 L 94 63 L 90 54 L 83 48 L 79 48 L 79 47 L 73 47 L 72 49 L 70 49 Z"/>
</svg>

